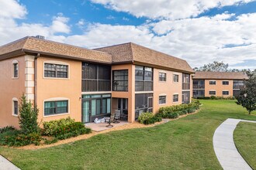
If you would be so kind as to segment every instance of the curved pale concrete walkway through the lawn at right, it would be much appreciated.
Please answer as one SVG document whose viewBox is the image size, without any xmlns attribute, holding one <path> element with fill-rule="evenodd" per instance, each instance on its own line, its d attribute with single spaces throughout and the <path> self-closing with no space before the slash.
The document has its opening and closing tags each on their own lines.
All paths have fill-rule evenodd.
<svg viewBox="0 0 256 170">
<path fill-rule="evenodd" d="M 251 170 L 252 168 L 244 161 L 244 158 L 237 151 L 234 144 L 233 132 L 237 127 L 240 119 L 227 119 L 224 121 L 213 135 L 213 148 L 218 158 L 220 165 L 224 170 L 226 169 L 243 169 Z M 246 121 L 256 123 L 256 121 Z"/>
</svg>

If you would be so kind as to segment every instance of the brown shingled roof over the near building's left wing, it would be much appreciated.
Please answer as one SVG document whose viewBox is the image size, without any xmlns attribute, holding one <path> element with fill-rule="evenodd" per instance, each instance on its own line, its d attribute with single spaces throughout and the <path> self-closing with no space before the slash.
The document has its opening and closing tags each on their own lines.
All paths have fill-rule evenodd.
<svg viewBox="0 0 256 170">
<path fill-rule="evenodd" d="M 112 56 L 92 49 L 71 46 L 60 42 L 25 37 L 15 42 L 0 46 L 0 60 L 8 54 L 19 51 L 20 53 L 41 53 L 49 56 L 60 56 L 71 59 L 89 60 L 101 63 L 112 63 Z M 18 53 L 17 53 L 18 54 Z"/>
</svg>

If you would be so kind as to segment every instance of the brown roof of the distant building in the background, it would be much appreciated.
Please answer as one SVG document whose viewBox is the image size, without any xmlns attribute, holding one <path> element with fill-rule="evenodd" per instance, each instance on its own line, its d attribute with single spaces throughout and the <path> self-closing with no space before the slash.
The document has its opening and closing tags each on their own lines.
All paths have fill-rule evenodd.
<svg viewBox="0 0 256 170">
<path fill-rule="evenodd" d="M 244 80 L 248 79 L 248 76 L 244 75 L 244 73 L 237 72 L 199 71 L 195 72 L 193 79 Z"/>
</svg>

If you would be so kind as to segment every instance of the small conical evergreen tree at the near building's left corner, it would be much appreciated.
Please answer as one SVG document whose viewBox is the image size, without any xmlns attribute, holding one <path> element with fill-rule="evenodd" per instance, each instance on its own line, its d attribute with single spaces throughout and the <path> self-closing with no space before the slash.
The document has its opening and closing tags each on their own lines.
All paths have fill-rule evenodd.
<svg viewBox="0 0 256 170">
<path fill-rule="evenodd" d="M 19 128 L 21 128 L 22 133 L 30 134 L 40 131 L 37 123 L 38 112 L 37 107 L 33 107 L 31 101 L 27 101 L 26 96 L 22 94 L 21 106 L 19 107 Z"/>
</svg>

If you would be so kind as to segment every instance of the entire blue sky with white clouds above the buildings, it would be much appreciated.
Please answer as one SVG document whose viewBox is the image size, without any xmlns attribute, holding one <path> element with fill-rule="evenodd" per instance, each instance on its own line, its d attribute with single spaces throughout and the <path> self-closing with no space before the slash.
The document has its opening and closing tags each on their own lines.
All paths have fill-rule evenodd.
<svg viewBox="0 0 256 170">
<path fill-rule="evenodd" d="M 134 42 L 192 67 L 256 69 L 256 0 L 0 0 L 0 46 L 36 35 L 89 49 Z"/>
</svg>

